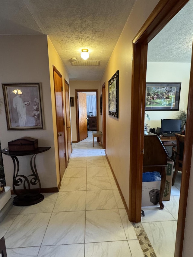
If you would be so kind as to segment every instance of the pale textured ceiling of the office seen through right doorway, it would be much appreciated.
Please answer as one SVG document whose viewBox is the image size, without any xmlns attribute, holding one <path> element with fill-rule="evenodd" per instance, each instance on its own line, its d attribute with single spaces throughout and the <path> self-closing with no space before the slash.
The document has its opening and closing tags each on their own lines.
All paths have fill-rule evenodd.
<svg viewBox="0 0 193 257">
<path fill-rule="evenodd" d="M 148 62 L 191 62 L 193 0 L 148 44 Z"/>
</svg>

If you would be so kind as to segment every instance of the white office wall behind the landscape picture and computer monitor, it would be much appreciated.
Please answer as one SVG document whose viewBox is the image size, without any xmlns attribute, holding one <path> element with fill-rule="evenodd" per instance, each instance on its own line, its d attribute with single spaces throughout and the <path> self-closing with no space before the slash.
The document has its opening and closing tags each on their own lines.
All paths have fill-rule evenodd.
<svg viewBox="0 0 193 257">
<path fill-rule="evenodd" d="M 188 89 L 190 79 L 190 63 L 147 63 L 147 82 L 181 82 L 179 109 L 187 109 Z M 146 111 L 150 121 L 145 116 L 145 122 L 151 128 L 161 126 L 161 119 L 176 119 L 178 111 Z"/>
</svg>

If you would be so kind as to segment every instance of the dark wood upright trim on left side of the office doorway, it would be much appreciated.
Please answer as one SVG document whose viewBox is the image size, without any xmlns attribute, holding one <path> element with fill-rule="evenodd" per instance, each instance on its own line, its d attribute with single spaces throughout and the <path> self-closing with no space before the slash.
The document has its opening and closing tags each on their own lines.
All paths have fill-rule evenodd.
<svg viewBox="0 0 193 257">
<path fill-rule="evenodd" d="M 131 89 L 131 143 L 129 178 L 129 220 L 141 221 L 141 192 L 144 145 L 145 84 L 147 66 L 147 45 L 133 44 L 132 89 Z M 136 98 L 136 96 L 138 96 Z M 136 101 L 135 99 L 139 99 Z M 139 115 L 140 114 L 140 115 Z M 137 131 L 136 131 L 137 130 Z M 137 132 L 137 133 L 136 133 Z M 133 169 L 136 171 L 134 172 Z"/>
</svg>

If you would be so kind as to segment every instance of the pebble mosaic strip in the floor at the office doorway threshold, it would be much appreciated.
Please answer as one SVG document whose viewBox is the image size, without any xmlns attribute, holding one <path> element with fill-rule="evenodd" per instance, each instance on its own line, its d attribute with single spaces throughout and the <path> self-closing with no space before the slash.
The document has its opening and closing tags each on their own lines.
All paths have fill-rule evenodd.
<svg viewBox="0 0 193 257">
<path fill-rule="evenodd" d="M 147 234 L 146 234 L 146 232 L 144 230 L 144 227 L 141 224 L 141 222 L 139 222 L 139 223 L 131 222 L 131 223 L 134 227 L 136 236 L 139 240 L 139 244 L 141 246 L 141 249 L 142 249 L 142 252 L 143 252 L 144 256 L 145 257 L 157 257 L 157 255 L 156 255 L 156 253 L 153 249 L 153 246 L 151 245 L 150 240 L 147 237 Z"/>
</svg>

